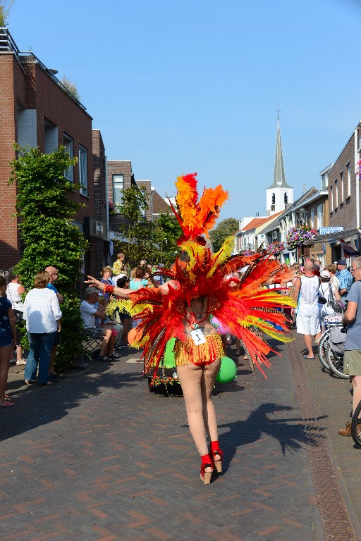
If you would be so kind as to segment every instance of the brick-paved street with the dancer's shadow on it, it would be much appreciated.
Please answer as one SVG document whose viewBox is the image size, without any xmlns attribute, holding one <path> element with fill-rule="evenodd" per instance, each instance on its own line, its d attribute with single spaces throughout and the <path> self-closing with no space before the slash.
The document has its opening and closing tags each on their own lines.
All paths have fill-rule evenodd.
<svg viewBox="0 0 361 541">
<path fill-rule="evenodd" d="M 271 356 L 267 381 L 258 371 L 254 380 L 240 357 L 235 383 L 216 385 L 225 462 L 209 486 L 183 398 L 150 393 L 139 354 L 91 361 L 43 388 L 25 387 L 23 367 L 12 366 L 16 407 L 0 411 L 1 541 L 360 540 L 361 449 L 337 434 L 350 384 L 304 361 L 299 338 L 276 348 L 283 356 Z M 292 348 L 317 411 L 312 421 L 299 403 Z M 341 491 L 336 503 L 314 483 L 310 450 L 321 444 L 335 471 L 327 466 L 324 477 Z M 334 506 L 341 533 L 327 533 L 325 506 Z"/>
</svg>

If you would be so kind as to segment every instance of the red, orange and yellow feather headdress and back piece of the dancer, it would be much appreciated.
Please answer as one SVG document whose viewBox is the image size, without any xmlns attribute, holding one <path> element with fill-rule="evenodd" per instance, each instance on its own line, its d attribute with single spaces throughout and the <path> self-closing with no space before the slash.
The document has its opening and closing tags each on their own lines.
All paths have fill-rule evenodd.
<svg viewBox="0 0 361 541">
<path fill-rule="evenodd" d="M 202 235 L 208 237 L 228 193 L 219 185 L 214 189 L 204 189 L 200 201 L 197 201 L 196 173 L 179 177 L 176 187 L 177 208 L 172 205 L 172 209 L 183 230 L 183 237 L 178 241 L 182 252 L 170 270 L 155 273 L 170 280 L 165 286 L 144 287 L 131 293 L 130 301 L 120 301 L 139 321 L 131 345 L 144 347 L 145 373 L 153 369 L 155 376 L 166 342 L 171 337 L 182 341 L 187 339 L 183 326 L 186 306 L 190 306 L 191 299 L 207 297 L 207 313 L 228 326 L 231 333 L 242 340 L 252 369 L 255 363 L 264 373 L 259 361 L 269 366 L 267 354 L 274 349 L 259 331 L 283 342 L 290 341 L 286 335 L 286 316 L 277 309 L 294 304 L 290 297 L 280 294 L 279 288 L 267 290 L 262 285 L 274 276 L 286 278 L 287 270 L 278 261 L 258 253 L 231 257 L 233 236 L 228 237 L 221 249 L 213 254 Z M 229 278 L 234 270 L 245 266 L 247 270 L 242 278 Z M 194 344 L 194 348 L 200 346 Z M 203 351 L 204 363 L 207 363 L 207 355 L 212 357 L 212 352 L 207 347 Z"/>
</svg>

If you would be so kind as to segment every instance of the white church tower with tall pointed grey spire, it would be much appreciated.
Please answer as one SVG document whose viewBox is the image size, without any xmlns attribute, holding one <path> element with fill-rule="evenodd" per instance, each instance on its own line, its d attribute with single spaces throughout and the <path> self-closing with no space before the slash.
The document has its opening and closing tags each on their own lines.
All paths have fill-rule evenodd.
<svg viewBox="0 0 361 541">
<path fill-rule="evenodd" d="M 277 119 L 276 156 L 274 158 L 274 182 L 266 190 L 267 216 L 284 211 L 287 205 L 293 203 L 293 188 L 286 182 L 285 168 L 281 143 L 279 116 Z"/>
</svg>

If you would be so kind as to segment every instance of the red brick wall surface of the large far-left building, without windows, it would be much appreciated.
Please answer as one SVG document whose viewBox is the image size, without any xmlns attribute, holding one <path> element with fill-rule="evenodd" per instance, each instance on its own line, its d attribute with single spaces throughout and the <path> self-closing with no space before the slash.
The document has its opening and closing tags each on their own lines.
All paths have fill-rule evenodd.
<svg viewBox="0 0 361 541">
<path fill-rule="evenodd" d="M 21 64 L 20 64 L 21 61 Z M 85 204 L 75 221 L 83 223 L 85 216 L 94 216 L 94 175 L 92 153 L 92 118 L 56 84 L 32 56 L 0 55 L 0 268 L 8 268 L 20 259 L 20 240 L 15 211 L 16 187 L 7 187 L 9 161 L 15 158 L 13 142 L 17 140 L 18 107 L 37 111 L 37 145 L 45 150 L 45 119 L 58 126 L 59 145 L 63 133 L 73 138 L 73 156 L 78 157 L 79 145 L 87 150 L 88 194 L 71 194 L 71 199 Z M 104 147 L 103 147 L 104 154 Z M 104 158 L 103 158 L 104 162 Z M 103 172 L 103 178 L 105 174 Z M 74 182 L 79 182 L 79 168 L 74 166 Z M 104 179 L 105 182 L 105 179 Z"/>
</svg>

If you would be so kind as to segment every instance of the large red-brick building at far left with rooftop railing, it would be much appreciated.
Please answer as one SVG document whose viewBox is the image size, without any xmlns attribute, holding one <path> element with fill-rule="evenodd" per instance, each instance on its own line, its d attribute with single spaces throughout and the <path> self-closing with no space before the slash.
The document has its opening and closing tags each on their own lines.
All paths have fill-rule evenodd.
<svg viewBox="0 0 361 541">
<path fill-rule="evenodd" d="M 9 162 L 16 158 L 13 142 L 21 147 L 39 147 L 51 153 L 63 145 L 79 163 L 66 171 L 74 184 L 81 184 L 71 198 L 85 204 L 78 209 L 74 223 L 90 240 L 91 249 L 85 258 L 85 271 L 96 269 L 93 254 L 99 251 L 99 240 L 106 239 L 106 226 L 101 221 L 104 211 L 94 208 L 93 143 L 97 157 L 97 180 L 104 175 L 104 145 L 99 130 L 92 133 L 92 117 L 71 92 L 56 79 L 31 52 L 21 53 L 8 30 L 0 30 L 0 187 L 3 201 L 0 219 L 0 266 L 9 268 L 18 263 L 21 245 L 18 221 L 13 217 L 16 185 L 7 186 Z M 99 163 L 98 163 L 98 161 Z M 104 178 L 104 177 L 103 177 Z M 102 195 L 97 197 L 102 200 Z"/>
</svg>

